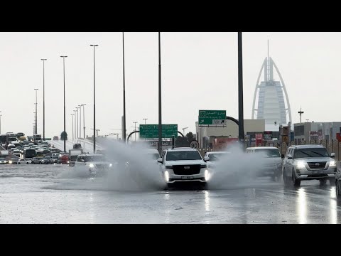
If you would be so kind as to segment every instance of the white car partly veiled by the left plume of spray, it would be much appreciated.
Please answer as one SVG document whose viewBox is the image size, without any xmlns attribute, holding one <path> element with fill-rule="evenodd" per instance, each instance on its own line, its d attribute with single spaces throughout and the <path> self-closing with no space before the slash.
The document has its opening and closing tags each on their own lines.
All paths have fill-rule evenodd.
<svg viewBox="0 0 341 256">
<path fill-rule="evenodd" d="M 112 169 L 112 163 L 102 154 L 80 154 L 75 161 L 75 168 L 85 167 L 90 176 L 103 176 Z"/>
</svg>

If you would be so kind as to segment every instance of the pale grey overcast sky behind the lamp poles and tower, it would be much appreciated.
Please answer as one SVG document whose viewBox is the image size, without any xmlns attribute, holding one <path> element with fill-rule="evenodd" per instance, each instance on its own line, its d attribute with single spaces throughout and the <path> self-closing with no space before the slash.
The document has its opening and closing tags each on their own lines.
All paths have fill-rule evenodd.
<svg viewBox="0 0 341 256">
<path fill-rule="evenodd" d="M 243 33 L 244 118 L 251 119 L 256 79 L 267 55 L 286 84 L 293 122 L 340 121 L 338 75 L 341 33 Z M 123 114 L 121 32 L 1 33 L 1 133 L 33 134 L 38 90 L 38 134 L 43 134 L 45 62 L 45 137 L 63 132 L 63 58 L 66 130 L 72 138 L 72 110 L 86 103 L 86 134 L 93 118 L 93 51 L 96 48 L 96 128 L 121 132 Z M 158 33 L 125 33 L 126 129 L 134 122 L 158 123 Z M 198 110 L 227 110 L 238 118 L 237 32 L 161 33 L 163 124 L 195 132 Z M 278 78 L 275 79 L 278 80 Z M 121 137 L 121 135 L 120 135 Z"/>
</svg>

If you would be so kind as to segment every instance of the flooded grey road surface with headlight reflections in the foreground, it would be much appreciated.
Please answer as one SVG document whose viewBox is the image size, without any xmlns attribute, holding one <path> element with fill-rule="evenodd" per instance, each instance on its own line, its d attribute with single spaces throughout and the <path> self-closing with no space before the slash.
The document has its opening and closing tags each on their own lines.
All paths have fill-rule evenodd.
<svg viewBox="0 0 341 256">
<path fill-rule="evenodd" d="M 0 223 L 341 223 L 335 186 L 259 178 L 224 190 L 118 191 L 65 165 L 0 166 Z"/>
</svg>

